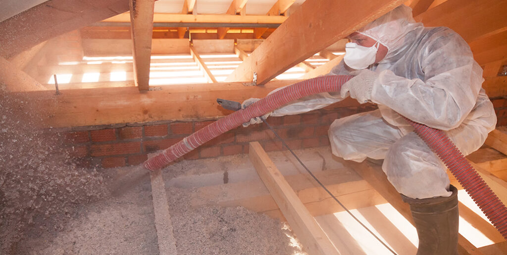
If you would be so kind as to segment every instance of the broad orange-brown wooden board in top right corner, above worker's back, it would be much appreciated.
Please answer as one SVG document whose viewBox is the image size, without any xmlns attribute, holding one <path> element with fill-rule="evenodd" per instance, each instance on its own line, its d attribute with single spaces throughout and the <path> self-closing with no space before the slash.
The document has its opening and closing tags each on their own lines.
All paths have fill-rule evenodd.
<svg viewBox="0 0 507 255">
<path fill-rule="evenodd" d="M 414 19 L 425 26 L 447 26 L 466 42 L 472 42 L 507 25 L 503 10 L 507 10 L 507 1 L 448 0 Z"/>
</svg>

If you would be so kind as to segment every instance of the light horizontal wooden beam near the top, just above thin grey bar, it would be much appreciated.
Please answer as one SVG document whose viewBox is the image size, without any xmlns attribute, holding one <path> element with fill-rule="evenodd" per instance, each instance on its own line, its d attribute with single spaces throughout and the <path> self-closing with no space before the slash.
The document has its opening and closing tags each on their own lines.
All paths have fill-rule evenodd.
<svg viewBox="0 0 507 255">
<path fill-rule="evenodd" d="M 114 17 L 104 19 L 102 22 L 129 22 L 129 14 L 123 13 Z M 226 15 L 226 14 L 169 14 L 155 13 L 153 16 L 154 23 L 170 23 L 170 24 L 214 24 L 214 26 L 233 27 L 232 24 L 281 24 L 287 17 L 284 16 L 262 16 L 262 15 Z"/>
</svg>

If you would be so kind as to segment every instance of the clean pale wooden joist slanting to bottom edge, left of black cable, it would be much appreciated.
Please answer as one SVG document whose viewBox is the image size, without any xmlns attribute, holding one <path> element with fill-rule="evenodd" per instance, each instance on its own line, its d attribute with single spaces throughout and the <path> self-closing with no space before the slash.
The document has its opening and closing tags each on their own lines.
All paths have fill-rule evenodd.
<svg viewBox="0 0 507 255">
<path fill-rule="evenodd" d="M 259 142 L 250 142 L 249 157 L 305 250 L 310 254 L 339 254 Z"/>
</svg>

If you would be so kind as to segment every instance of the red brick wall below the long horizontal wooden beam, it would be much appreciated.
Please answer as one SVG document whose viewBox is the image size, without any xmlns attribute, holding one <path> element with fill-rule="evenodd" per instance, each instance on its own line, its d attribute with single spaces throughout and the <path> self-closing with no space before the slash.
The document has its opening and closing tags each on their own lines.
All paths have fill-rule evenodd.
<svg viewBox="0 0 507 255">
<path fill-rule="evenodd" d="M 268 123 L 291 149 L 329 145 L 328 129 L 341 117 L 372 111 L 376 106 L 344 107 L 319 110 L 303 115 L 270 117 Z M 83 165 L 119 167 L 144 162 L 149 153 L 168 148 L 184 137 L 213 121 L 172 122 L 143 126 L 115 125 L 95 129 L 80 127 L 79 131 L 60 133 L 65 137 L 67 151 Z M 238 127 L 185 155 L 187 160 L 248 153 L 248 143 L 259 141 L 266 151 L 283 150 L 282 143 L 264 124 Z"/>
</svg>

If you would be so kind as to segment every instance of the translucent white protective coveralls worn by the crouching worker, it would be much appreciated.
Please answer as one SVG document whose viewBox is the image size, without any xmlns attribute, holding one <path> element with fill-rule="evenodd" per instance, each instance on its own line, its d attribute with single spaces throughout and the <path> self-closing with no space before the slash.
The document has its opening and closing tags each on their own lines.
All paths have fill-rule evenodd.
<svg viewBox="0 0 507 255">
<path fill-rule="evenodd" d="M 451 195 L 445 165 L 401 115 L 446 131 L 463 155 L 478 150 L 496 125 L 493 105 L 481 88 L 481 67 L 456 32 L 415 23 L 404 5 L 357 32 L 388 49 L 383 60 L 368 67 L 378 74 L 371 101 L 379 109 L 335 120 L 329 130 L 333 154 L 357 162 L 384 159 L 383 171 L 405 196 Z M 329 75 L 348 75 L 347 69 L 342 61 Z M 271 116 L 305 113 L 341 100 L 339 92 L 312 95 Z"/>
</svg>

